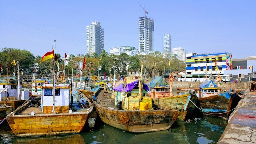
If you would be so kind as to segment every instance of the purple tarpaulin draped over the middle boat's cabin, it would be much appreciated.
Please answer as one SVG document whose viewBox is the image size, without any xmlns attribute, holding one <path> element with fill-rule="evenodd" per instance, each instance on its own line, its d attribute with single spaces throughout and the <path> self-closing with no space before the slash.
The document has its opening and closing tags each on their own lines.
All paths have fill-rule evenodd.
<svg viewBox="0 0 256 144">
<path fill-rule="evenodd" d="M 136 87 L 138 80 L 127 80 L 127 83 L 124 90 L 123 90 L 123 80 L 120 80 L 119 82 L 117 82 L 113 88 L 113 90 L 116 91 L 132 91 L 132 89 L 134 89 L 134 87 Z M 146 89 L 147 91 L 149 91 L 148 86 L 146 84 L 143 83 L 143 89 Z"/>
</svg>

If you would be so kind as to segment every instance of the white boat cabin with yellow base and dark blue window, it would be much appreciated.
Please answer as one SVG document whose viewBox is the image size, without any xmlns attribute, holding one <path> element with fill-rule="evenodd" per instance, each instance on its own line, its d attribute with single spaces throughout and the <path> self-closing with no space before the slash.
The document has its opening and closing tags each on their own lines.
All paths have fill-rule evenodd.
<svg viewBox="0 0 256 144">
<path fill-rule="evenodd" d="M 55 112 L 68 113 L 69 111 L 69 85 L 55 85 Z M 53 84 L 42 85 L 41 109 L 43 114 L 51 114 L 53 110 Z"/>
</svg>

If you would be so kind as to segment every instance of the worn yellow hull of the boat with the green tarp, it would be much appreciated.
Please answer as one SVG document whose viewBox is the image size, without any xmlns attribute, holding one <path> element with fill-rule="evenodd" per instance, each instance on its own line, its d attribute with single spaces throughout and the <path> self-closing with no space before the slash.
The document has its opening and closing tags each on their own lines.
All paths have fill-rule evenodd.
<svg viewBox="0 0 256 144">
<path fill-rule="evenodd" d="M 154 99 L 154 104 L 164 110 L 180 110 L 181 112 L 177 119 L 185 121 L 194 111 L 197 101 L 197 96 L 187 93 L 178 96 L 156 98 Z"/>
</svg>

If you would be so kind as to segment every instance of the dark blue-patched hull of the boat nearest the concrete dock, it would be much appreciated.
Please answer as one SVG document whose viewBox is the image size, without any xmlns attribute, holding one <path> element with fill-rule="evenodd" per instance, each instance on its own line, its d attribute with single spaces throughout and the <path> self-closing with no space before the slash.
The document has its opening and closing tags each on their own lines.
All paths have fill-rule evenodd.
<svg viewBox="0 0 256 144">
<path fill-rule="evenodd" d="M 230 110 L 237 106 L 237 103 L 241 98 L 236 94 L 231 95 L 228 92 L 224 92 L 222 94 L 199 98 L 198 100 L 204 115 L 228 120 L 229 115 L 232 112 Z"/>
</svg>

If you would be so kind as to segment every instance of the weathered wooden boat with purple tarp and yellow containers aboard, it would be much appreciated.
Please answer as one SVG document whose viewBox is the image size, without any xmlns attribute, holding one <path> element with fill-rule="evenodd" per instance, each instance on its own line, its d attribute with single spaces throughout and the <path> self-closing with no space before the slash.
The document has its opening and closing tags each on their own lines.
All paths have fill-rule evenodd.
<svg viewBox="0 0 256 144">
<path fill-rule="evenodd" d="M 178 110 L 152 108 L 148 86 L 142 82 L 142 69 L 143 63 L 140 80 L 115 83 L 113 96 L 112 91 L 101 89 L 95 93 L 97 100 L 93 104 L 104 123 L 129 132 L 152 132 L 169 129 L 177 119 Z"/>
</svg>

